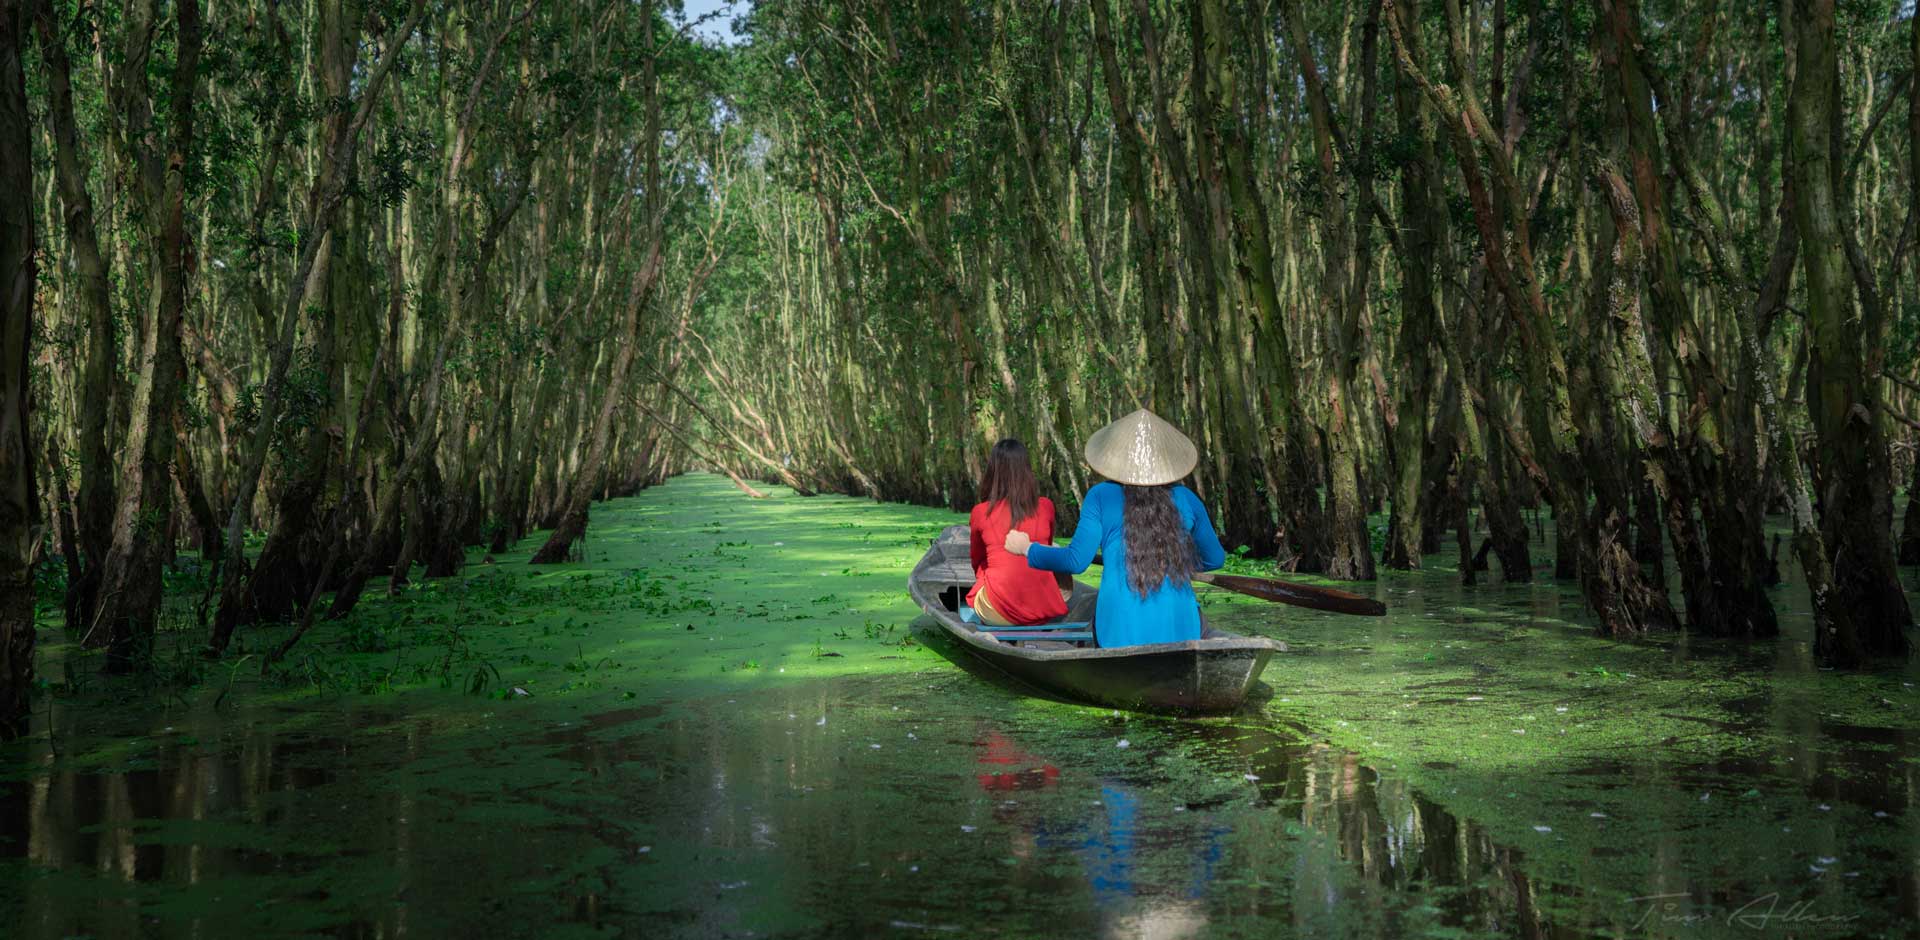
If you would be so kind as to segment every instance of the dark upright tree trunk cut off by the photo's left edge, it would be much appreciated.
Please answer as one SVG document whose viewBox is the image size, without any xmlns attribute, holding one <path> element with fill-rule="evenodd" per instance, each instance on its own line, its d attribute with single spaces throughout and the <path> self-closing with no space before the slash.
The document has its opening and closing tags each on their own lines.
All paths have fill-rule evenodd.
<svg viewBox="0 0 1920 940">
<path fill-rule="evenodd" d="M 33 152 L 21 71 L 25 15 L 0 6 L 0 153 Z M 27 441 L 27 347 L 33 340 L 33 165 L 0 163 L 0 740 L 27 725 L 33 693 L 33 516 L 38 493 Z"/>
</svg>

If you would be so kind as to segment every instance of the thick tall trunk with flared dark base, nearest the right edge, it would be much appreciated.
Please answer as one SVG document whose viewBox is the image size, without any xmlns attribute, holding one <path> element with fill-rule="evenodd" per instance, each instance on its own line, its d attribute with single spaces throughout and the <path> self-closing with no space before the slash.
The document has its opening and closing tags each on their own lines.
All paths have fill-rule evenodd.
<svg viewBox="0 0 1920 940">
<path fill-rule="evenodd" d="M 1847 263 L 1839 175 L 1843 123 L 1834 0 L 1795 2 L 1795 69 L 1788 104 L 1793 224 L 1807 276 L 1807 411 L 1814 426 L 1812 487 L 1834 566 L 1826 629 L 1814 654 L 1860 666 L 1907 650 L 1912 625 L 1893 566 L 1893 503 L 1878 380 L 1866 374 L 1855 280 Z"/>
</svg>

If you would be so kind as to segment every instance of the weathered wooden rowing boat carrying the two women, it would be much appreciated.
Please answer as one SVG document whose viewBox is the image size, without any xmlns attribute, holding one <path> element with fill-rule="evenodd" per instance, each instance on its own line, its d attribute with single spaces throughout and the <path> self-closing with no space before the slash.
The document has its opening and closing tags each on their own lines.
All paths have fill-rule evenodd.
<svg viewBox="0 0 1920 940">
<path fill-rule="evenodd" d="M 1202 625 L 1183 643 L 1098 648 L 1092 616 L 1098 591 L 1073 581 L 1068 616 L 1035 627 L 989 627 L 964 618 L 973 587 L 968 528 L 948 526 L 914 566 L 906 589 L 939 625 L 975 656 L 1025 685 L 1064 698 L 1139 712 L 1231 712 L 1284 643 Z"/>
</svg>

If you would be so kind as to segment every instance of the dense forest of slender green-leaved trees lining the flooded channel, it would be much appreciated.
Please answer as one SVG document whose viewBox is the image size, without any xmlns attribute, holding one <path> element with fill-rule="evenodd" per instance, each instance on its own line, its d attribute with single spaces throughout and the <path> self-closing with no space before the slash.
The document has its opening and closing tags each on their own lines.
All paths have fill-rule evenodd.
<svg viewBox="0 0 1920 940">
<path fill-rule="evenodd" d="M 1907 2 L 0 21 L 13 683 L 35 587 L 115 671 L 296 623 L 273 660 L 538 529 L 564 562 L 595 499 L 687 468 L 966 508 L 1018 435 L 1071 506 L 1137 407 L 1281 570 L 1450 537 L 1615 637 L 1761 639 L 1795 564 L 1822 662 L 1908 646 Z"/>
</svg>

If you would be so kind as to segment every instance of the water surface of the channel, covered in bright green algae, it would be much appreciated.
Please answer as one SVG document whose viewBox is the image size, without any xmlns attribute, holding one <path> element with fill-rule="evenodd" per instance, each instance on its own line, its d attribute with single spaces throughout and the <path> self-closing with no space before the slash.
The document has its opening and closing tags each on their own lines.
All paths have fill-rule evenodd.
<svg viewBox="0 0 1920 940">
<path fill-rule="evenodd" d="M 956 516 L 687 476 L 586 560 L 474 558 L 269 675 L 88 679 L 0 750 L 0 934 L 1910 936 L 1920 677 L 1592 637 L 1578 597 L 1210 595 L 1236 716 L 1027 694 L 906 572 Z M 1260 574 L 1256 564 L 1236 568 Z M 1782 600 L 1797 589 L 1782 591 Z M 177 599 L 190 604 L 190 599 Z M 169 633 L 182 662 L 196 635 Z"/>
</svg>

